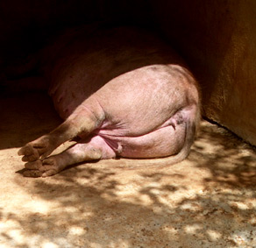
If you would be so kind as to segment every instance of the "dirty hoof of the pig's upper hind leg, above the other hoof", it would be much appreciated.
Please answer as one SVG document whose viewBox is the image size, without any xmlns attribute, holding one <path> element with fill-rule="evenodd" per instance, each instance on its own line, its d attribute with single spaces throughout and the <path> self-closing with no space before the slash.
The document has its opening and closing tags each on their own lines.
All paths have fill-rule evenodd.
<svg viewBox="0 0 256 248">
<path fill-rule="evenodd" d="M 40 157 L 44 159 L 53 152 L 54 147 L 52 146 L 53 145 L 50 145 L 49 138 L 43 136 L 20 148 L 18 155 L 23 156 L 22 160 L 24 162 L 32 162 Z"/>
</svg>

